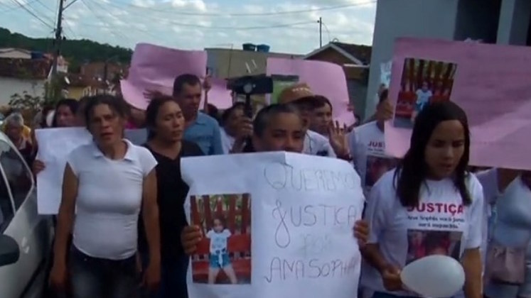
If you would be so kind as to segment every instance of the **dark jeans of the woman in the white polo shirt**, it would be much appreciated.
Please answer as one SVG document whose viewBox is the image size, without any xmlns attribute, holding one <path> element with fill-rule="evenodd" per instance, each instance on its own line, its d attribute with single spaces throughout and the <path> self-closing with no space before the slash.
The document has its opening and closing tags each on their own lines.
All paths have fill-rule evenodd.
<svg viewBox="0 0 531 298">
<path fill-rule="evenodd" d="M 139 288 L 136 259 L 92 258 L 73 246 L 70 282 L 73 298 L 136 298 Z"/>
</svg>

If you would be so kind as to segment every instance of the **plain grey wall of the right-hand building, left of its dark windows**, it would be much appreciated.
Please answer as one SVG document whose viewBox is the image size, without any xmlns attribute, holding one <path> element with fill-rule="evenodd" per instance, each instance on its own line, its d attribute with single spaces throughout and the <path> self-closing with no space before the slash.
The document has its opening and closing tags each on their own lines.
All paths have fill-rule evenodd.
<svg viewBox="0 0 531 298">
<path fill-rule="evenodd" d="M 395 38 L 454 39 L 458 0 L 378 0 L 372 58 L 363 118 L 375 111 L 373 99 L 380 84 L 380 63 L 392 58 Z M 483 1 L 482 1 L 483 2 Z"/>
</svg>

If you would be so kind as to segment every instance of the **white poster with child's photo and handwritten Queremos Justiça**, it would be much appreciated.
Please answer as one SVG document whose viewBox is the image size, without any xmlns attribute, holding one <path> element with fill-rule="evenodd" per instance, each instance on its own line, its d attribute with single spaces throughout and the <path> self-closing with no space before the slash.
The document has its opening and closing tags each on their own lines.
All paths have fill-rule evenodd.
<svg viewBox="0 0 531 298">
<path fill-rule="evenodd" d="M 364 197 L 348 162 L 248 153 L 184 158 L 181 171 L 188 222 L 205 235 L 188 268 L 190 298 L 357 297 L 353 226 Z"/>
</svg>

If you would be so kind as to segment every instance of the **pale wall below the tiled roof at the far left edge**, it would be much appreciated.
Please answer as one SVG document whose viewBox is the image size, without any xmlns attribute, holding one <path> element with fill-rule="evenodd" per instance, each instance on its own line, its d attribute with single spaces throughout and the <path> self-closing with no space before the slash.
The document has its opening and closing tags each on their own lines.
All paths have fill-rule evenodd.
<svg viewBox="0 0 531 298">
<path fill-rule="evenodd" d="M 43 96 L 44 80 L 14 79 L 0 77 L 0 106 L 9 104 L 11 95 L 28 92 L 31 96 Z"/>
</svg>

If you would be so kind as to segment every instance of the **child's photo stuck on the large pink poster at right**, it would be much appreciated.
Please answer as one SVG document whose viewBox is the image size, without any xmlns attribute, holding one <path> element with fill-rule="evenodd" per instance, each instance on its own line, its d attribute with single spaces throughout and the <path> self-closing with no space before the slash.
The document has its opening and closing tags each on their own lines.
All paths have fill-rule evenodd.
<svg viewBox="0 0 531 298">
<path fill-rule="evenodd" d="M 456 63 L 406 58 L 395 106 L 395 127 L 412 128 L 424 106 L 449 101 L 456 71 Z"/>
</svg>

